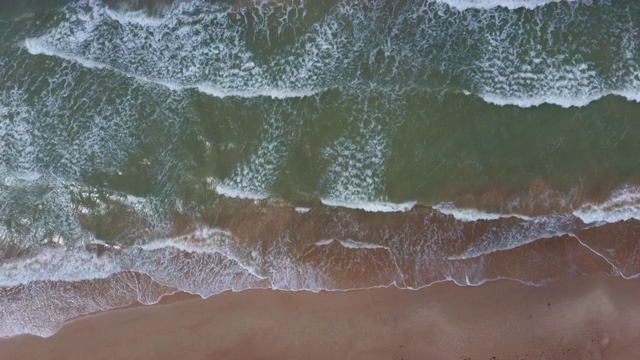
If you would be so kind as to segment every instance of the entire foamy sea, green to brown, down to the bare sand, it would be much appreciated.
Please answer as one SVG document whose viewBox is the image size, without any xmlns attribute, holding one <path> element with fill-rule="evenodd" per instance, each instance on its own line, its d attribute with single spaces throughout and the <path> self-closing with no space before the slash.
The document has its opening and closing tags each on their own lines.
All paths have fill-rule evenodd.
<svg viewBox="0 0 640 360">
<path fill-rule="evenodd" d="M 0 336 L 637 277 L 639 102 L 636 1 L 0 1 Z"/>
</svg>

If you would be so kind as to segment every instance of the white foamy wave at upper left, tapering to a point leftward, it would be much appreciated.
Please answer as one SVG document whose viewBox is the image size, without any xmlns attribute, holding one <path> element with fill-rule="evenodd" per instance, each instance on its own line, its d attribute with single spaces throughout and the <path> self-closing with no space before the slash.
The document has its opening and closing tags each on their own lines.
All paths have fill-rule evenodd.
<svg viewBox="0 0 640 360">
<path fill-rule="evenodd" d="M 298 98 L 331 87 L 315 81 L 324 67 L 314 61 L 276 58 L 258 62 L 241 38 L 242 30 L 230 20 L 235 15 L 229 14 L 229 6 L 180 2 L 160 17 L 145 11 L 113 10 L 93 0 L 88 7 L 72 3 L 64 10 L 67 21 L 45 35 L 25 40 L 29 53 L 109 69 L 174 91 L 192 89 L 219 98 Z M 121 32 L 110 30 L 114 22 L 122 27 Z M 171 36 L 167 38 L 168 33 Z M 100 43 L 115 42 L 127 51 L 114 52 L 108 45 L 96 47 L 98 38 Z M 211 42 L 215 45 L 210 46 Z M 310 71 L 312 65 L 318 69 Z M 273 68 L 292 73 L 275 76 Z"/>
</svg>

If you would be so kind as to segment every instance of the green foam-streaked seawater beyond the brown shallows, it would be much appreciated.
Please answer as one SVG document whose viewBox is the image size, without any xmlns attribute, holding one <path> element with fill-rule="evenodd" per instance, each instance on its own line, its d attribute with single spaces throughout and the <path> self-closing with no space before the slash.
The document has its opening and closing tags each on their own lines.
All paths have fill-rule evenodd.
<svg viewBox="0 0 640 360">
<path fill-rule="evenodd" d="M 2 7 L 14 242 L 114 201 L 144 227 L 221 198 L 393 210 L 640 174 L 637 2 Z"/>
</svg>

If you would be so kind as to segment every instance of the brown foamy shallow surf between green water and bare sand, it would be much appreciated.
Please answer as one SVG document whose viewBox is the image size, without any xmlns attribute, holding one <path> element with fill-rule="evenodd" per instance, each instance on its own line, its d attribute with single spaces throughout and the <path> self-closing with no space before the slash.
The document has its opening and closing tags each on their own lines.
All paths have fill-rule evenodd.
<svg viewBox="0 0 640 360">
<path fill-rule="evenodd" d="M 573 213 L 546 215 L 452 204 L 402 212 L 317 204 L 299 211 L 276 200 L 228 199 L 197 217 L 176 216 L 153 237 L 129 245 L 51 241 L 5 259 L 0 334 L 49 336 L 74 317 L 153 304 L 176 291 L 206 298 L 256 288 L 418 289 L 495 279 L 542 285 L 601 273 L 634 278 L 640 213 L 632 189 Z"/>
</svg>

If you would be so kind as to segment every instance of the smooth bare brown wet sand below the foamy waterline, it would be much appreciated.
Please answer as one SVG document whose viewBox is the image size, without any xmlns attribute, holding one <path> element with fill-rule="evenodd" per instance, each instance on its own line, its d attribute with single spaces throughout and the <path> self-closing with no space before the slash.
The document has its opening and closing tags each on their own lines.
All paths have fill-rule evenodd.
<svg viewBox="0 0 640 360">
<path fill-rule="evenodd" d="M 640 280 L 501 280 L 418 291 L 184 293 L 89 315 L 6 359 L 634 359 Z"/>
</svg>

